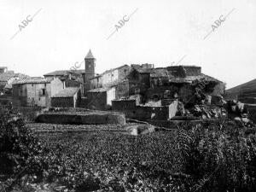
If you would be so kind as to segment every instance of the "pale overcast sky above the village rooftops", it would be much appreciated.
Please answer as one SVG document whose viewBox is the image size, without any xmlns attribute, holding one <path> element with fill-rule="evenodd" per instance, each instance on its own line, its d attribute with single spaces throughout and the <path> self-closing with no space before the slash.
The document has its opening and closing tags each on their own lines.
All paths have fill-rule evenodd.
<svg viewBox="0 0 256 192">
<path fill-rule="evenodd" d="M 19 28 L 26 18 L 32 21 Z M 69 69 L 89 49 L 96 73 L 183 59 L 228 88 L 256 76 L 255 0 L 0 0 L 0 25 L 0 66 L 30 76 Z"/>
</svg>

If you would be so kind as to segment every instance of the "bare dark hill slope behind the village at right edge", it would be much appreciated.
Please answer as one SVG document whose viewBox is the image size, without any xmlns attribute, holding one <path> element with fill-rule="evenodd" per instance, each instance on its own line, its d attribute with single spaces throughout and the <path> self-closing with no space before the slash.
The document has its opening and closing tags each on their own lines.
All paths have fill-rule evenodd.
<svg viewBox="0 0 256 192">
<path fill-rule="evenodd" d="M 226 90 L 225 97 L 229 99 L 237 98 L 239 101 L 248 104 L 256 104 L 256 79 Z"/>
</svg>

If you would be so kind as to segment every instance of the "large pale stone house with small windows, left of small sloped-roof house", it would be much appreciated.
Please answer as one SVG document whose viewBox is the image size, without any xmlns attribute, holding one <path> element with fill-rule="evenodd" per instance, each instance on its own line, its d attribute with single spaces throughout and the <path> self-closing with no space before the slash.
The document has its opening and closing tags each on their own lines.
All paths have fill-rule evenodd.
<svg viewBox="0 0 256 192">
<path fill-rule="evenodd" d="M 13 105 L 50 107 L 51 96 L 64 89 L 60 79 L 22 79 L 13 83 Z"/>
</svg>

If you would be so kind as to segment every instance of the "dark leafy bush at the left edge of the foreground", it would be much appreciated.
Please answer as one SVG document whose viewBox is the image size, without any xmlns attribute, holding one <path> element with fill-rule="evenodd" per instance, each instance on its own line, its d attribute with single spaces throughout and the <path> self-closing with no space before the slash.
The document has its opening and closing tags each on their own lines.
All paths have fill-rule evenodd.
<svg viewBox="0 0 256 192">
<path fill-rule="evenodd" d="M 0 173 L 6 177 L 39 171 L 36 165 L 43 147 L 12 108 L 0 108 L 0 151 Z"/>
</svg>

